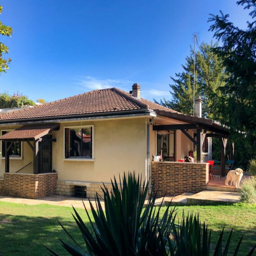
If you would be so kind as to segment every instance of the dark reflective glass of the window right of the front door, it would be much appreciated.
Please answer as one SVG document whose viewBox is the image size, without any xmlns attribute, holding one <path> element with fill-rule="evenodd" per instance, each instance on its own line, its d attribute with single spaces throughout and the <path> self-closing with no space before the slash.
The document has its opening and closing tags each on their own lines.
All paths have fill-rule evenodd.
<svg viewBox="0 0 256 256">
<path fill-rule="evenodd" d="M 70 157 L 92 158 L 92 128 L 70 129 Z"/>
</svg>

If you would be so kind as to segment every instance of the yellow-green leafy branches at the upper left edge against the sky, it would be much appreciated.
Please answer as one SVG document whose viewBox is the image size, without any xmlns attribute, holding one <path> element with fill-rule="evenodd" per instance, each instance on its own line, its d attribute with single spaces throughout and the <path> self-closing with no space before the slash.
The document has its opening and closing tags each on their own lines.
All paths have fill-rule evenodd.
<svg viewBox="0 0 256 256">
<path fill-rule="evenodd" d="M 0 14 L 3 11 L 3 7 L 0 6 Z M 4 25 L 0 21 L 0 34 L 5 36 L 11 36 L 13 34 L 13 29 L 10 26 Z M 9 48 L 2 42 L 0 42 L 0 74 L 1 72 L 6 72 L 9 69 L 8 64 L 11 62 L 11 59 L 5 59 L 3 56 L 9 53 Z"/>
</svg>

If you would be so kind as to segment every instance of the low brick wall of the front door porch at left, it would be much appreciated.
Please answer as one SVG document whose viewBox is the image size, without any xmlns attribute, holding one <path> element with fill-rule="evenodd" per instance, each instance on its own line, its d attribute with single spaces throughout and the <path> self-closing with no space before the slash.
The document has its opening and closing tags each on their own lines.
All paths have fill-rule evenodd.
<svg viewBox="0 0 256 256">
<path fill-rule="evenodd" d="M 56 172 L 42 174 L 5 172 L 0 193 L 31 199 L 51 196 L 56 194 L 57 178 Z"/>
</svg>

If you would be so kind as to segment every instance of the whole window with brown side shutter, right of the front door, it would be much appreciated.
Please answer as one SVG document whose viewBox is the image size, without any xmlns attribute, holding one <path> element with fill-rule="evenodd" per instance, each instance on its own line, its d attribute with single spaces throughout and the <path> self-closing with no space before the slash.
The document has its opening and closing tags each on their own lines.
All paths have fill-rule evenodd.
<svg viewBox="0 0 256 256">
<path fill-rule="evenodd" d="M 65 158 L 93 158 L 93 127 L 65 128 Z"/>
</svg>

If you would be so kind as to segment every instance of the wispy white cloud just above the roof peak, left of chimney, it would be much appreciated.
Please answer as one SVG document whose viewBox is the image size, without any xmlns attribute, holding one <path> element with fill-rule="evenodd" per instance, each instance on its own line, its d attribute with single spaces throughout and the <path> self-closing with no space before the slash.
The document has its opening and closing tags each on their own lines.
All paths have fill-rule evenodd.
<svg viewBox="0 0 256 256">
<path fill-rule="evenodd" d="M 111 87 L 123 87 L 130 85 L 132 82 L 125 79 L 98 79 L 92 76 L 86 76 L 78 80 L 78 84 L 89 90 L 106 89 Z"/>
</svg>

